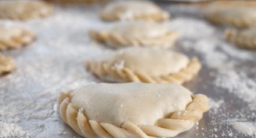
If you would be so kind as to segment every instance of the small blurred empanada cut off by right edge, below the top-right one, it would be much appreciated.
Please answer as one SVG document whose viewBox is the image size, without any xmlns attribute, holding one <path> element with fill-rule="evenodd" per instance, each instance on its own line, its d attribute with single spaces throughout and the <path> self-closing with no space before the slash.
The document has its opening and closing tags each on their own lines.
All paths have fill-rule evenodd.
<svg viewBox="0 0 256 138">
<path fill-rule="evenodd" d="M 239 47 L 256 49 L 256 28 L 226 29 L 226 40 L 237 44 Z"/>
</svg>

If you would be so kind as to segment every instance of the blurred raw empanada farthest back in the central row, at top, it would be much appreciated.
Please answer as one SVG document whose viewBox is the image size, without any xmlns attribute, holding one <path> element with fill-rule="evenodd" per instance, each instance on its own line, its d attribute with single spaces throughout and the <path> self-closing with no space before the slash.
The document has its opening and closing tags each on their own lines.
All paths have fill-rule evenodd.
<svg viewBox="0 0 256 138">
<path fill-rule="evenodd" d="M 149 1 L 114 1 L 100 12 L 104 20 L 151 20 L 163 21 L 169 13 Z"/>
</svg>

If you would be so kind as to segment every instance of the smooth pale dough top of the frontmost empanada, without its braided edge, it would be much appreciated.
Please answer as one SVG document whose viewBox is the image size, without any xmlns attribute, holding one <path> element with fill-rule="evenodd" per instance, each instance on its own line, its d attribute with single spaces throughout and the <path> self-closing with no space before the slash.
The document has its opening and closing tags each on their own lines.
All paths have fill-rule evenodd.
<svg viewBox="0 0 256 138">
<path fill-rule="evenodd" d="M 125 121 L 154 125 L 170 113 L 185 110 L 192 101 L 191 94 L 175 84 L 100 83 L 76 91 L 71 103 L 74 107 L 84 108 L 88 119 L 97 122 L 118 127 Z"/>
</svg>

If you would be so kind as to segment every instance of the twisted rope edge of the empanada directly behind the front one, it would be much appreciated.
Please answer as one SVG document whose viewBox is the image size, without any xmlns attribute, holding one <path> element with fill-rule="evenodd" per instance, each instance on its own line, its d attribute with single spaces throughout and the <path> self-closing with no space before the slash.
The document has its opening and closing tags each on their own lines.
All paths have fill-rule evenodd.
<svg viewBox="0 0 256 138">
<path fill-rule="evenodd" d="M 86 67 L 88 70 L 92 71 L 97 77 L 102 80 L 107 80 L 106 77 L 114 77 L 113 80 L 117 82 L 144 82 L 144 83 L 169 83 L 175 82 L 182 84 L 192 80 L 193 76 L 198 74 L 201 70 L 201 62 L 198 58 L 190 59 L 186 68 L 181 69 L 178 73 L 171 73 L 164 76 L 149 76 L 148 74 L 143 74 L 135 72 L 127 67 L 113 68 L 112 65 L 108 65 L 107 62 L 93 62 L 86 61 Z M 116 82 L 114 81 L 114 82 Z"/>
</svg>

